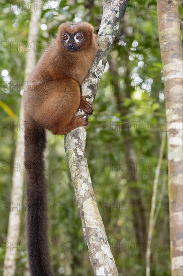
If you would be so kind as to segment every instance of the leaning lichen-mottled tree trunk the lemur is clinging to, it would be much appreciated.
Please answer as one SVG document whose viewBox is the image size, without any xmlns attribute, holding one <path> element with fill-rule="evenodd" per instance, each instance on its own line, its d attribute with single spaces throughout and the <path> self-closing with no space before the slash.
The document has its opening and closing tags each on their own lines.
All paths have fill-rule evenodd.
<svg viewBox="0 0 183 276">
<path fill-rule="evenodd" d="M 91 103 L 95 98 L 128 2 L 129 0 L 103 1 L 103 17 L 98 32 L 99 51 L 93 68 L 82 86 L 83 95 L 90 95 Z M 116 276 L 118 272 L 96 203 L 85 155 L 85 145 L 85 127 L 79 127 L 65 135 L 65 151 L 94 274 Z"/>
</svg>

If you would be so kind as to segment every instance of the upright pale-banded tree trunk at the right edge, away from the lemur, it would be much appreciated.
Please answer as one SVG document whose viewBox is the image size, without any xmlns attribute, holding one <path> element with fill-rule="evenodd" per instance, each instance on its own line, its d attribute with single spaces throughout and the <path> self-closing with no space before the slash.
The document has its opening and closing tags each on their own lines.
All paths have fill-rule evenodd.
<svg viewBox="0 0 183 276">
<path fill-rule="evenodd" d="M 158 1 L 158 24 L 161 56 L 166 83 L 166 118 L 168 122 L 169 211 L 172 275 L 183 271 L 183 206 L 182 206 L 182 44 L 178 1 L 164 8 Z"/>
</svg>

